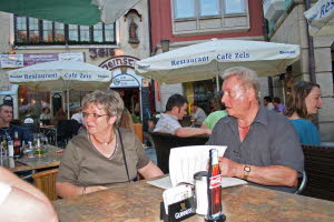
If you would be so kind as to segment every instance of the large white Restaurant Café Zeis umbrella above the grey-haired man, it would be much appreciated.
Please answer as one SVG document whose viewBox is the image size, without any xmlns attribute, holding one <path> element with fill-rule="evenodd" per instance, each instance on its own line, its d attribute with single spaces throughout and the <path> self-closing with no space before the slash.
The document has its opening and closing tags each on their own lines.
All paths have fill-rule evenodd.
<svg viewBox="0 0 334 222">
<path fill-rule="evenodd" d="M 262 77 L 284 73 L 299 58 L 299 46 L 212 39 L 136 62 L 136 73 L 167 84 L 207 80 L 230 67 L 247 67 Z M 218 90 L 217 81 L 217 90 Z"/>
</svg>

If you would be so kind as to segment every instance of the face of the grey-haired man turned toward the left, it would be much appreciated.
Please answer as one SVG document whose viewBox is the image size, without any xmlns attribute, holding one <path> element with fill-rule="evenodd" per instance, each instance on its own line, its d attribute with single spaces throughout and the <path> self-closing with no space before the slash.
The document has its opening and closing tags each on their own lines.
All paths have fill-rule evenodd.
<svg viewBox="0 0 334 222">
<path fill-rule="evenodd" d="M 225 103 L 229 115 L 239 118 L 247 114 L 252 104 L 250 91 L 237 77 L 230 77 L 224 81 L 222 102 Z"/>
</svg>

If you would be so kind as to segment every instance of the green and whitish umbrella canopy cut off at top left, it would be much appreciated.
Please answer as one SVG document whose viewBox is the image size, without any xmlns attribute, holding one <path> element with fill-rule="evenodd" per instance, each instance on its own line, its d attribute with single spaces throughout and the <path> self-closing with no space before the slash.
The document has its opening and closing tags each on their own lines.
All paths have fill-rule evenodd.
<svg viewBox="0 0 334 222">
<path fill-rule="evenodd" d="M 0 0 L 0 11 L 61 23 L 109 24 L 140 0 Z"/>
</svg>

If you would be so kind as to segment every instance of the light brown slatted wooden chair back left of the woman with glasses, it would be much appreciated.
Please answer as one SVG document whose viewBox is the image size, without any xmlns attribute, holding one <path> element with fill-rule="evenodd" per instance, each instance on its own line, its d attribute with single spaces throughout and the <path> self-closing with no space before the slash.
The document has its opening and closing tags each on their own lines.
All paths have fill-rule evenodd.
<svg viewBox="0 0 334 222">
<path fill-rule="evenodd" d="M 51 169 L 32 174 L 35 185 L 42 191 L 50 201 L 58 199 L 56 194 L 56 179 L 58 169 Z"/>
</svg>

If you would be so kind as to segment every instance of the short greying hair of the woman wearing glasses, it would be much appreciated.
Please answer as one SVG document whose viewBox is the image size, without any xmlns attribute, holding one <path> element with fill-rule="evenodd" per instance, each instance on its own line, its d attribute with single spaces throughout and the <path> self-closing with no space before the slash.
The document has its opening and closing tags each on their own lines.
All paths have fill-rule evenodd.
<svg viewBox="0 0 334 222">
<path fill-rule="evenodd" d="M 119 121 L 124 110 L 124 101 L 119 93 L 114 90 L 101 91 L 96 90 L 87 94 L 82 100 L 84 110 L 90 104 L 102 105 L 102 109 L 108 115 L 116 115 L 116 125 L 119 125 Z"/>
</svg>

